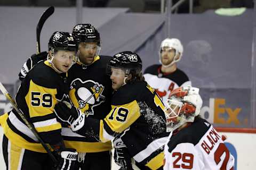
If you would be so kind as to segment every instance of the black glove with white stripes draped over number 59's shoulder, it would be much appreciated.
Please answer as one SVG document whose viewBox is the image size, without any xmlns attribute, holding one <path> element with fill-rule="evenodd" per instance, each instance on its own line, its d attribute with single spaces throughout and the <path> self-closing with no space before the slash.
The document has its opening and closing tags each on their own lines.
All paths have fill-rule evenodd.
<svg viewBox="0 0 256 170">
<path fill-rule="evenodd" d="M 47 52 L 42 52 L 39 54 L 33 54 L 28 60 L 23 64 L 19 73 L 19 79 L 23 80 L 27 73 L 39 62 L 45 61 L 47 58 Z"/>
</svg>

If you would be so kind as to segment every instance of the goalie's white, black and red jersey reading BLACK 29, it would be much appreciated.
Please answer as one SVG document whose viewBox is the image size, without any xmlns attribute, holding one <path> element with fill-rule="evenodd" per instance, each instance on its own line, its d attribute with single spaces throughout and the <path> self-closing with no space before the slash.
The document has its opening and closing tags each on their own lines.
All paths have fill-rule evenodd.
<svg viewBox="0 0 256 170">
<path fill-rule="evenodd" d="M 171 133 L 164 148 L 164 170 L 233 170 L 234 157 L 213 126 L 196 118 L 181 131 Z"/>
</svg>

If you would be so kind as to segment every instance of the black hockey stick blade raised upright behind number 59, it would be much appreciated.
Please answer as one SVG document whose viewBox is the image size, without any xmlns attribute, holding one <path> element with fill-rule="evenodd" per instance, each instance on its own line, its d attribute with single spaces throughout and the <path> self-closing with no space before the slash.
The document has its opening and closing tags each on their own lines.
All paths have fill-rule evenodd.
<svg viewBox="0 0 256 170">
<path fill-rule="evenodd" d="M 47 10 L 45 10 L 41 16 L 41 18 L 39 19 L 38 23 L 37 23 L 37 27 L 36 27 L 36 54 L 41 52 L 40 49 L 40 35 L 41 35 L 41 30 L 43 28 L 43 25 L 45 23 L 45 21 L 47 20 L 47 18 L 49 18 L 54 12 L 54 7 L 50 6 L 49 8 L 47 8 Z"/>
</svg>

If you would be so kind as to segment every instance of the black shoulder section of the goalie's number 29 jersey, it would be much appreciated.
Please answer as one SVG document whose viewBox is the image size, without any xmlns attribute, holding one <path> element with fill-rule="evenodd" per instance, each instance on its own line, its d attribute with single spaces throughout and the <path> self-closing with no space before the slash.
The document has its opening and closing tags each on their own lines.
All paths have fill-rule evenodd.
<svg viewBox="0 0 256 170">
<path fill-rule="evenodd" d="M 192 143 L 195 146 L 210 127 L 211 124 L 203 118 L 195 118 L 195 121 L 187 128 L 183 128 L 177 134 L 172 135 L 167 144 L 169 151 L 171 152 L 180 143 Z"/>
</svg>

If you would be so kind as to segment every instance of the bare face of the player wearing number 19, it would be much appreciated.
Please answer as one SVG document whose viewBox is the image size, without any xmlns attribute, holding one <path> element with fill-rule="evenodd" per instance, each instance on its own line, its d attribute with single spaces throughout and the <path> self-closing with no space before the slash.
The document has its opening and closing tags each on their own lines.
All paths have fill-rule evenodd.
<svg viewBox="0 0 256 170">
<path fill-rule="evenodd" d="M 112 88 L 114 90 L 117 90 L 123 86 L 124 78 L 125 78 L 125 74 L 122 69 L 117 69 L 117 68 L 111 67 L 110 79 L 112 81 Z"/>
</svg>

